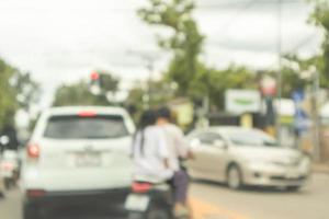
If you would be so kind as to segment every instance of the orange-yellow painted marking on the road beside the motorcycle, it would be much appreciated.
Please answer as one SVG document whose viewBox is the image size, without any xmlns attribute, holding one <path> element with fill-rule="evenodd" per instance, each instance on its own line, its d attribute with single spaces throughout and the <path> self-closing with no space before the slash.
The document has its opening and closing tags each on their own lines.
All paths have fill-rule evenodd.
<svg viewBox="0 0 329 219">
<path fill-rule="evenodd" d="M 222 206 L 215 206 L 198 198 L 191 198 L 194 219 L 249 219 L 241 214 L 226 209 Z"/>
</svg>

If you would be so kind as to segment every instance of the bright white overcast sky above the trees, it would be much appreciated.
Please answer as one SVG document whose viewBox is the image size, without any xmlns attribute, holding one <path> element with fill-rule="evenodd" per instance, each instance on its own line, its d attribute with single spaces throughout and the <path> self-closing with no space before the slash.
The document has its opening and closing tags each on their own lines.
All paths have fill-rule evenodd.
<svg viewBox="0 0 329 219">
<path fill-rule="evenodd" d="M 160 28 L 136 15 L 147 0 L 0 0 L 0 57 L 42 83 L 42 105 L 56 88 L 109 70 L 123 80 L 145 79 L 143 56 L 155 58 L 157 72 L 168 54 L 157 47 Z M 282 0 L 282 50 L 303 56 L 318 53 L 321 33 L 306 20 L 304 0 Z M 194 13 L 206 36 L 202 59 L 225 68 L 236 62 L 250 68 L 275 68 L 279 13 L 275 0 L 198 0 Z"/>
</svg>

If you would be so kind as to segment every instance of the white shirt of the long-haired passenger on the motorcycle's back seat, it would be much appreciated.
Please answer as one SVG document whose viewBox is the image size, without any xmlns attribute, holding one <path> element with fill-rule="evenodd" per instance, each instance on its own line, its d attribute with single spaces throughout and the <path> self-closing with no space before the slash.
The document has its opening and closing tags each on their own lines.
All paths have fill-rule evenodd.
<svg viewBox="0 0 329 219">
<path fill-rule="evenodd" d="M 169 150 L 161 128 L 150 126 L 144 130 L 144 153 L 141 150 L 141 132 L 138 132 L 133 142 L 134 180 L 157 183 L 173 176 L 173 171 L 164 166 Z"/>
</svg>

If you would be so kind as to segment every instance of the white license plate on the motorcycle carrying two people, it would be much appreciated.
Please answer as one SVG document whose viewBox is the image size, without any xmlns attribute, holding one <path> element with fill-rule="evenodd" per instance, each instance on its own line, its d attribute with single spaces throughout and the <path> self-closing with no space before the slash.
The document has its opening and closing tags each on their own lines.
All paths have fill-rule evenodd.
<svg viewBox="0 0 329 219">
<path fill-rule="evenodd" d="M 129 195 L 125 203 L 125 209 L 132 211 L 146 211 L 150 198 L 146 195 Z"/>
</svg>

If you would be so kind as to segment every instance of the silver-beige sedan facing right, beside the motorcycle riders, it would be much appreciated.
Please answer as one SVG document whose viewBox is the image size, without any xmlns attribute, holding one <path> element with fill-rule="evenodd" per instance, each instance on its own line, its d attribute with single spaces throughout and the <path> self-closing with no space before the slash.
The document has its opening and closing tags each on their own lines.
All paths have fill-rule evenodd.
<svg viewBox="0 0 329 219">
<path fill-rule="evenodd" d="M 232 189 L 257 185 L 298 191 L 310 174 L 308 157 L 261 130 L 211 127 L 188 139 L 195 155 L 188 163 L 194 178 L 225 182 Z"/>
</svg>

